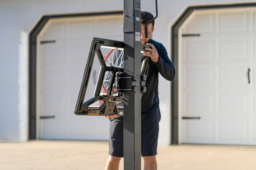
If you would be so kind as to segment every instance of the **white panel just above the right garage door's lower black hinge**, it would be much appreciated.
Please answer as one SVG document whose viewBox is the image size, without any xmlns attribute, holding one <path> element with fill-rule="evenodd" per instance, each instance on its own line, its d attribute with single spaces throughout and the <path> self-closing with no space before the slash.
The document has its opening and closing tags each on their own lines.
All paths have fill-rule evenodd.
<svg viewBox="0 0 256 170">
<path fill-rule="evenodd" d="M 186 115 L 202 116 L 213 111 L 213 94 L 186 94 Z"/>
</svg>

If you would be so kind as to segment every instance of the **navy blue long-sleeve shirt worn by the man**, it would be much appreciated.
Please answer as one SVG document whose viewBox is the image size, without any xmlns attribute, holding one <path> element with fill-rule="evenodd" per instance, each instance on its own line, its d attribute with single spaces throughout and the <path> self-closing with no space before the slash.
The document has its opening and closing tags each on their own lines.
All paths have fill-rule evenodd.
<svg viewBox="0 0 256 170">
<path fill-rule="evenodd" d="M 166 80 L 172 81 L 175 78 L 175 68 L 168 57 L 166 48 L 160 42 L 149 40 L 157 49 L 159 55 L 158 62 L 152 62 L 148 69 L 146 79 L 147 91 L 141 98 L 141 112 L 142 113 L 156 113 L 160 111 L 159 97 L 158 97 L 158 73 L 160 73 Z"/>
</svg>

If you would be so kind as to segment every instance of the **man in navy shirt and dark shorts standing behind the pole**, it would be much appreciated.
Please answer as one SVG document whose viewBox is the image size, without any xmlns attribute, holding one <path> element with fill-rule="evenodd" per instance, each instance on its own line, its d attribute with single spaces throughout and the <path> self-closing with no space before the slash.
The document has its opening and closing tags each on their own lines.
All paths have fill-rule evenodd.
<svg viewBox="0 0 256 170">
<path fill-rule="evenodd" d="M 158 73 L 165 79 L 172 81 L 175 77 L 175 69 L 168 57 L 164 46 L 151 40 L 154 31 L 154 21 L 148 23 L 148 38 L 145 38 L 144 26 L 153 15 L 149 12 L 141 12 L 141 44 L 150 45 L 145 48 L 145 56 L 150 57 L 148 76 L 146 79 L 147 91 L 141 99 L 141 151 L 144 159 L 144 170 L 157 170 L 157 140 L 159 133 L 159 121 L 161 118 L 158 98 Z M 106 116 L 110 121 L 109 157 L 106 170 L 118 170 L 119 161 L 123 157 L 123 117 Z"/>
</svg>

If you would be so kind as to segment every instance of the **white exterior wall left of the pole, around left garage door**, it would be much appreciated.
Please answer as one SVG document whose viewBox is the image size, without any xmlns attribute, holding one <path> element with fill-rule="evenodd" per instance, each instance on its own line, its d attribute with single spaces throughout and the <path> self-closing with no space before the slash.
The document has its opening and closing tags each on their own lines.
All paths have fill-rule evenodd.
<svg viewBox="0 0 256 170">
<path fill-rule="evenodd" d="M 122 0 L 0 1 L 0 140 L 28 139 L 28 36 L 41 16 L 122 9 Z"/>
</svg>

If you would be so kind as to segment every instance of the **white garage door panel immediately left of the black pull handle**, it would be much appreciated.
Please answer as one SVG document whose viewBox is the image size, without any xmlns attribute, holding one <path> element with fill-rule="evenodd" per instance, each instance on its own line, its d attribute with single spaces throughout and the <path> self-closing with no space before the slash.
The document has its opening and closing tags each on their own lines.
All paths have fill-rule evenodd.
<svg viewBox="0 0 256 170">
<path fill-rule="evenodd" d="M 219 87 L 244 87 L 247 85 L 247 67 L 220 66 L 218 68 Z"/>
</svg>

